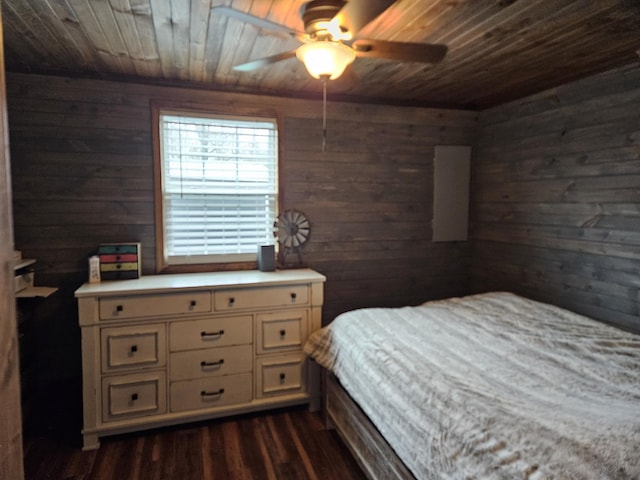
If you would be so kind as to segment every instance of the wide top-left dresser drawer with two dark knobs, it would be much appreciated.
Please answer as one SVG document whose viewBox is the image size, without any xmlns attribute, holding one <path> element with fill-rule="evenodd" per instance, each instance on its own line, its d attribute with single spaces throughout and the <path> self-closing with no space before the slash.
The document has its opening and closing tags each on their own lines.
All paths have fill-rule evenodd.
<svg viewBox="0 0 640 480">
<path fill-rule="evenodd" d="M 167 293 L 100 299 L 101 320 L 206 313 L 210 311 L 210 292 Z"/>
</svg>

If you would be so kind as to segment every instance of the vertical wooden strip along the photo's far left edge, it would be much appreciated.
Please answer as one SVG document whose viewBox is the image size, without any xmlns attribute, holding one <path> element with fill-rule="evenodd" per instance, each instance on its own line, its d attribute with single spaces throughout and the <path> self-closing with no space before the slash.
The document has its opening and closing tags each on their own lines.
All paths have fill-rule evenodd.
<svg viewBox="0 0 640 480">
<path fill-rule="evenodd" d="M 0 20 L 2 14 L 0 12 Z M 13 279 L 13 217 L 4 56 L 0 25 L 0 478 L 21 480 L 22 422 L 16 299 Z"/>
</svg>

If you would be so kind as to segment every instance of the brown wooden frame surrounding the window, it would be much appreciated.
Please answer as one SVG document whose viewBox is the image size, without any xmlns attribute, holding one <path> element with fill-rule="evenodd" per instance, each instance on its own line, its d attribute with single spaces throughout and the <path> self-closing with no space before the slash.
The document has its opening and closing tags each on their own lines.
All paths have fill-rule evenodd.
<svg viewBox="0 0 640 480">
<path fill-rule="evenodd" d="M 155 242 L 156 242 L 156 272 L 157 273 L 195 273 L 195 272 L 214 272 L 227 270 L 255 270 L 257 268 L 257 250 L 256 260 L 251 261 L 222 261 L 222 262 L 206 262 L 206 263 L 188 263 L 188 264 L 168 264 L 164 257 L 164 215 L 163 215 L 163 191 L 162 191 L 162 145 L 160 133 L 160 116 L 167 111 L 171 113 L 184 114 L 189 116 L 216 116 L 220 117 L 236 117 L 242 119 L 268 119 L 275 120 L 277 133 L 277 202 L 279 214 L 282 210 L 282 202 L 284 199 L 283 190 L 283 160 L 282 160 L 282 115 L 274 110 L 252 108 L 249 106 L 233 105 L 233 111 L 229 108 L 229 102 L 226 105 L 218 104 L 194 104 L 186 101 L 171 100 L 152 100 L 151 101 L 151 133 L 153 147 L 153 190 L 154 190 L 154 217 L 155 217 Z M 275 238 L 275 237 L 274 237 Z"/>
</svg>

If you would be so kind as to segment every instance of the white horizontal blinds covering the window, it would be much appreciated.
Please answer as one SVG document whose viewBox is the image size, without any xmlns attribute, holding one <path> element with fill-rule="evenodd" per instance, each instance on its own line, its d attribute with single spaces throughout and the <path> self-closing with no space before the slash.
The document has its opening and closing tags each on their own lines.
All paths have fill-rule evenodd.
<svg viewBox="0 0 640 480">
<path fill-rule="evenodd" d="M 273 244 L 275 120 L 163 112 L 160 139 L 167 264 L 254 260 Z"/>
</svg>

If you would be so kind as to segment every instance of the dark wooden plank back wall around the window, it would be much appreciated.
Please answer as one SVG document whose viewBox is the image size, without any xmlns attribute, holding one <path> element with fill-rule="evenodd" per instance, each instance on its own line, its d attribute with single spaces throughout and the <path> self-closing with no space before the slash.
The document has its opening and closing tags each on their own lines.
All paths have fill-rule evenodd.
<svg viewBox="0 0 640 480">
<path fill-rule="evenodd" d="M 36 282 L 60 288 L 37 313 L 41 384 L 78 374 L 73 291 L 99 243 L 142 242 L 155 272 L 152 99 L 281 115 L 282 207 L 311 221 L 304 258 L 328 278 L 325 322 L 467 291 L 469 245 L 430 240 L 432 162 L 434 145 L 471 142 L 473 112 L 330 102 L 323 153 L 319 101 L 28 74 L 8 89 L 16 244 L 38 260 Z"/>
</svg>

